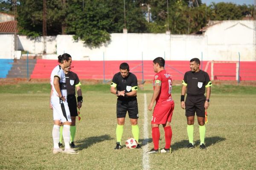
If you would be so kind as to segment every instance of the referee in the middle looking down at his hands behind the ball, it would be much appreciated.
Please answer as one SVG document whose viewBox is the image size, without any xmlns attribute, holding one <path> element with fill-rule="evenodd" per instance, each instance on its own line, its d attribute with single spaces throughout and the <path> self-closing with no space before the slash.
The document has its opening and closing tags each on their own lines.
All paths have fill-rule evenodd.
<svg viewBox="0 0 256 170">
<path fill-rule="evenodd" d="M 128 115 L 131 122 L 132 134 L 134 139 L 139 140 L 139 126 L 137 125 L 138 116 L 138 103 L 137 103 L 137 90 L 138 82 L 137 77 L 129 72 L 129 65 L 123 62 L 120 67 L 120 72 L 116 73 L 111 82 L 110 91 L 117 96 L 116 103 L 116 147 L 121 149 L 121 139 L 123 133 L 123 126 L 125 124 L 125 115 Z M 140 144 L 137 145 L 140 148 Z"/>
</svg>

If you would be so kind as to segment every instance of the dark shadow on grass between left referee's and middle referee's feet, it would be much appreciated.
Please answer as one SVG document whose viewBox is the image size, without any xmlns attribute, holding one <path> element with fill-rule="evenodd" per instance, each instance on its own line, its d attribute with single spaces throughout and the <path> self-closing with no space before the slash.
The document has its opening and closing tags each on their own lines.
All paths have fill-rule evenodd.
<svg viewBox="0 0 256 170">
<path fill-rule="evenodd" d="M 102 135 L 102 136 L 92 136 L 89 138 L 85 138 L 84 140 L 79 140 L 76 141 L 76 147 L 78 147 L 77 150 L 83 150 L 86 149 L 90 146 L 92 146 L 93 144 L 102 142 L 102 141 L 106 141 L 106 140 L 112 140 L 113 138 L 111 138 L 109 135 Z"/>
</svg>

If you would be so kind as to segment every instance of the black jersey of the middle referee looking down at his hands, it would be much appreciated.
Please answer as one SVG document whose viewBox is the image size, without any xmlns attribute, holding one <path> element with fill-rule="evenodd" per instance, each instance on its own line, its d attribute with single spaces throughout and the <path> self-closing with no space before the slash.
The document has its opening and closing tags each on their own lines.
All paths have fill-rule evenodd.
<svg viewBox="0 0 256 170">
<path fill-rule="evenodd" d="M 111 86 L 116 87 L 117 91 L 125 91 L 125 93 L 138 90 L 137 77 L 129 72 L 129 75 L 123 78 L 121 73 L 118 72 L 114 75 Z M 136 98 L 136 96 L 118 96 L 119 100 L 129 100 L 134 98 Z"/>
</svg>

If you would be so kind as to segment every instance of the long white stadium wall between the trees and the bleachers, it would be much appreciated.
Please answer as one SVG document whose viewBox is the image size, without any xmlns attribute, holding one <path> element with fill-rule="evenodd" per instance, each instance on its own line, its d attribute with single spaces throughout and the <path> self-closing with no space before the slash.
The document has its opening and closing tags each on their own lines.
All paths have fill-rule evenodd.
<svg viewBox="0 0 256 170">
<path fill-rule="evenodd" d="M 47 55 L 43 59 L 56 59 L 69 53 L 74 60 L 167 60 L 256 61 L 253 21 L 221 21 L 209 26 L 202 35 L 113 33 L 111 40 L 98 48 L 73 40 L 73 35 L 47 37 Z M 0 58 L 9 58 L 14 51 L 14 36 L 0 34 Z M 256 40 L 255 40 L 256 41 Z M 18 50 L 42 54 L 43 37 L 30 40 L 18 36 Z M 11 55 L 12 56 L 12 55 Z"/>
</svg>

